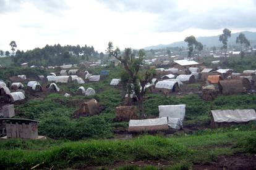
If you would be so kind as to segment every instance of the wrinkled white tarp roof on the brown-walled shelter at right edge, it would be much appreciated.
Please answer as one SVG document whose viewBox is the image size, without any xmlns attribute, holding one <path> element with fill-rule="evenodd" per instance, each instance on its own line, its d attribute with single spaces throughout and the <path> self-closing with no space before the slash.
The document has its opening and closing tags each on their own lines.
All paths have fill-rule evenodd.
<svg viewBox="0 0 256 170">
<path fill-rule="evenodd" d="M 254 109 L 237 109 L 237 110 L 211 110 L 213 119 L 216 123 L 247 122 L 256 120 Z"/>
</svg>

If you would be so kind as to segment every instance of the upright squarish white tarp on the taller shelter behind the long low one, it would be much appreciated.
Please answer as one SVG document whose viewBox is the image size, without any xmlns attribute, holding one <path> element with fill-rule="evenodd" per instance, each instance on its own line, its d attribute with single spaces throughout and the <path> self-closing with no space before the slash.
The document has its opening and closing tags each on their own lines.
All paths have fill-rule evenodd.
<svg viewBox="0 0 256 170">
<path fill-rule="evenodd" d="M 180 118 L 183 121 L 186 114 L 186 105 L 160 105 L 158 110 L 160 118 Z"/>
</svg>

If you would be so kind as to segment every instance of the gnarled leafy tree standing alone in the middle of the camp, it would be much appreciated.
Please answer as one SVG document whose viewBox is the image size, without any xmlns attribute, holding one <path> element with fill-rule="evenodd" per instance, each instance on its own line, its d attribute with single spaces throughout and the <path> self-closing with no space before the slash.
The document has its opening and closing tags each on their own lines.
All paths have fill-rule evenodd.
<svg viewBox="0 0 256 170">
<path fill-rule="evenodd" d="M 138 100 L 140 118 L 142 118 L 142 116 L 145 117 L 145 110 L 143 105 L 143 99 L 146 93 L 145 86 L 147 83 L 151 82 L 154 75 L 154 73 L 150 70 L 140 71 L 140 65 L 142 65 L 143 59 L 145 57 L 145 51 L 140 49 L 138 52 L 139 59 L 135 59 L 135 55 L 132 53 L 132 49 L 126 48 L 121 54 L 119 48 L 114 49 L 113 43 L 109 42 L 106 52 L 109 54 L 109 57 L 116 58 L 124 66 L 124 70 L 127 75 L 124 81 L 127 84 L 128 99 L 130 99 L 130 94 L 132 93 L 132 90 L 134 90 Z"/>
</svg>

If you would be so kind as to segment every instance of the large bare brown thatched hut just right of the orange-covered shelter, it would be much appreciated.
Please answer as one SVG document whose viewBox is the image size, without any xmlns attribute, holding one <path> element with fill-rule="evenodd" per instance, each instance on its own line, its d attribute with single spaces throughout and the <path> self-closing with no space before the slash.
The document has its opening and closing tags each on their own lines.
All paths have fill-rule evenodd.
<svg viewBox="0 0 256 170">
<path fill-rule="evenodd" d="M 250 90 L 250 82 L 246 78 L 221 80 L 219 89 L 222 94 L 239 94 Z"/>
</svg>

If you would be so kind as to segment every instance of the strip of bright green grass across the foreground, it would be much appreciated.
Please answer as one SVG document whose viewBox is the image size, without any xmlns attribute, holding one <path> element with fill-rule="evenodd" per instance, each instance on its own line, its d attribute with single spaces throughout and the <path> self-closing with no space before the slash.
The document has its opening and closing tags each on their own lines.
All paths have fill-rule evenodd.
<svg viewBox="0 0 256 170">
<path fill-rule="evenodd" d="M 79 168 L 106 166 L 117 161 L 163 160 L 189 168 L 218 155 L 255 152 L 255 123 L 229 129 L 202 131 L 181 137 L 141 136 L 131 140 L 5 140 L 0 143 L 0 169 Z M 248 145 L 250 142 L 250 145 Z M 250 148 L 248 148 L 250 147 Z"/>
</svg>

